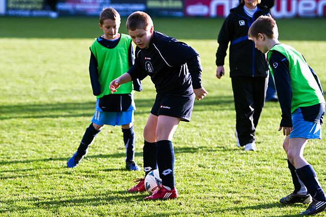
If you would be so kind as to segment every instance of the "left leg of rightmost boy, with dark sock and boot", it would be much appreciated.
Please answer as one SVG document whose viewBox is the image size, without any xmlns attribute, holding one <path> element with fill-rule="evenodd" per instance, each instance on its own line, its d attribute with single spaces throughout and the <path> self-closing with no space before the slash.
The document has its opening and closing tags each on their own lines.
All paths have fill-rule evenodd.
<svg viewBox="0 0 326 217">
<path fill-rule="evenodd" d="M 283 142 L 283 148 L 287 153 L 289 148 L 289 136 L 285 137 L 285 140 Z M 292 165 L 292 163 L 289 160 L 287 160 L 287 163 L 291 173 L 292 183 L 294 185 L 294 191 L 293 193 L 281 198 L 280 202 L 285 204 L 310 203 L 311 196 L 307 193 L 307 188 L 305 187 L 304 183 L 300 180 L 300 178 L 298 178 L 295 171 L 295 167 Z"/>
</svg>

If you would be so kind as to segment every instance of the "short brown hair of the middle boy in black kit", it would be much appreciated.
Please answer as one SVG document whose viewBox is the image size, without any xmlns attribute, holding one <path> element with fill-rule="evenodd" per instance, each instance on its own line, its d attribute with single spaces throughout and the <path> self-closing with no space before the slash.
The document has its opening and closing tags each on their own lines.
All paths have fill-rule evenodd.
<svg viewBox="0 0 326 217">
<path fill-rule="evenodd" d="M 148 30 L 151 26 L 153 26 L 152 18 L 142 11 L 136 11 L 130 14 L 126 22 L 127 30 L 132 31 L 137 28 Z"/>
</svg>

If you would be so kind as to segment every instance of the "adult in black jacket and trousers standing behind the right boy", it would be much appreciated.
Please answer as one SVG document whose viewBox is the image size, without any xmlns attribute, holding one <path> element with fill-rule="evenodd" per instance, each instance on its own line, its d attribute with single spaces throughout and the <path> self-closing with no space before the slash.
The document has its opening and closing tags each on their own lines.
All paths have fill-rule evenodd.
<svg viewBox="0 0 326 217">
<path fill-rule="evenodd" d="M 238 7 L 230 10 L 219 33 L 216 52 L 216 77 L 224 74 L 224 59 L 230 42 L 230 77 L 236 111 L 237 146 L 244 150 L 256 150 L 255 130 L 264 106 L 267 84 L 265 54 L 255 48 L 248 39 L 251 24 L 261 15 L 268 15 L 260 0 L 241 0 Z"/>
</svg>

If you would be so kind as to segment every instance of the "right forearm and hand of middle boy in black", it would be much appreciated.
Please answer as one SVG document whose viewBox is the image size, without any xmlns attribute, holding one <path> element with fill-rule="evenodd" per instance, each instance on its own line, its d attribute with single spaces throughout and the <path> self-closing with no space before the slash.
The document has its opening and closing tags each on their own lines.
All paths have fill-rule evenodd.
<svg viewBox="0 0 326 217">
<path fill-rule="evenodd" d="M 192 84 L 197 100 L 202 100 L 208 92 L 202 86 L 201 72 L 202 66 L 198 55 L 187 61 L 187 67 L 192 77 Z"/>
</svg>

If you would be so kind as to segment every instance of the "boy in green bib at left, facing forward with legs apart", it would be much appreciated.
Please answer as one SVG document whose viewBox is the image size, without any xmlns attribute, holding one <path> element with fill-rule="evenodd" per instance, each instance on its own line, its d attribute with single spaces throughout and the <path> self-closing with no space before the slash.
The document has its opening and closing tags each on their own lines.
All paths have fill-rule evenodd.
<svg viewBox="0 0 326 217">
<path fill-rule="evenodd" d="M 121 126 L 126 149 L 126 169 L 140 170 L 134 162 L 134 132 L 132 123 L 135 109 L 132 95 L 132 84 L 135 90 L 141 90 L 138 80 L 125 83 L 111 94 L 108 88 L 110 82 L 133 64 L 133 48 L 128 35 L 118 33 L 120 15 L 113 8 L 106 8 L 100 14 L 99 27 L 103 35 L 91 45 L 90 78 L 93 94 L 96 96 L 95 113 L 91 125 L 86 129 L 82 141 L 67 162 L 74 168 L 84 158 L 94 137 L 101 131 L 103 125 Z"/>
</svg>

